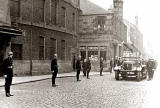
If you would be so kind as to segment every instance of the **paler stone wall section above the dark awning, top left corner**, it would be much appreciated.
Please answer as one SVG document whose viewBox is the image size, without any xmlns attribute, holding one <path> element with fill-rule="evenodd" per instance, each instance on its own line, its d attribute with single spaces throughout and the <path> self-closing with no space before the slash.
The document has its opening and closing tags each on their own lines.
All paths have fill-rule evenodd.
<svg viewBox="0 0 160 108">
<path fill-rule="evenodd" d="M 0 26 L 11 25 L 9 0 L 0 0 Z"/>
</svg>

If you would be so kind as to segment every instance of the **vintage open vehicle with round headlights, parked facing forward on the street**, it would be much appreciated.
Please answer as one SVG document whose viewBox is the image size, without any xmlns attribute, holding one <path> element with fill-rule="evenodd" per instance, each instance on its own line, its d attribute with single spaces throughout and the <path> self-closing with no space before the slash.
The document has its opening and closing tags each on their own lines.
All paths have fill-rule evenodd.
<svg viewBox="0 0 160 108">
<path fill-rule="evenodd" d="M 116 80 L 132 77 L 140 81 L 147 77 L 146 65 L 142 64 L 140 57 L 123 57 L 122 59 L 121 65 L 114 68 Z"/>
</svg>

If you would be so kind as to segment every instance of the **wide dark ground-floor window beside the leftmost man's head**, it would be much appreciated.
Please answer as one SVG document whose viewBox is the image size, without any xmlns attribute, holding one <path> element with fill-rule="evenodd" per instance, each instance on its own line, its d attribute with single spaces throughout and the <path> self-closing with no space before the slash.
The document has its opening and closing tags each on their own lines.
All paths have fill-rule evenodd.
<svg viewBox="0 0 160 108">
<path fill-rule="evenodd" d="M 22 60 L 22 44 L 11 44 L 14 60 Z"/>
</svg>

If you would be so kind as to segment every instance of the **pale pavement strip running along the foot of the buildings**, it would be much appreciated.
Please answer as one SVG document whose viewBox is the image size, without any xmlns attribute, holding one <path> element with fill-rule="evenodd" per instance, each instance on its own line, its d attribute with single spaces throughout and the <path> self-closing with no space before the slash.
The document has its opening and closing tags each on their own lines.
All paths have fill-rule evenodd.
<svg viewBox="0 0 160 108">
<path fill-rule="evenodd" d="M 99 75 L 99 72 L 90 72 L 90 75 Z M 104 74 L 110 74 L 109 72 L 104 72 Z M 81 72 L 80 75 L 83 75 Z M 65 78 L 65 77 L 75 77 L 76 72 L 70 72 L 70 73 L 58 73 L 57 78 Z M 30 82 L 36 82 L 36 81 L 42 81 L 46 79 L 51 79 L 52 75 L 40 75 L 40 76 L 22 76 L 22 77 L 13 77 L 12 85 L 16 84 L 23 84 L 23 83 L 30 83 Z M 5 84 L 5 79 L 0 78 L 0 87 L 3 87 Z"/>
</svg>

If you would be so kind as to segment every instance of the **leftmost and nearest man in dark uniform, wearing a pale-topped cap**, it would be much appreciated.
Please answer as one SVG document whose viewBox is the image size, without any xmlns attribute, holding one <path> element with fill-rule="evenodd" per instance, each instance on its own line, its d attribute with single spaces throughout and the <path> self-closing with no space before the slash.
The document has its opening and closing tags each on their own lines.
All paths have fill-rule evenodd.
<svg viewBox="0 0 160 108">
<path fill-rule="evenodd" d="M 3 72 L 5 77 L 5 92 L 6 96 L 10 97 L 13 96 L 10 94 L 10 86 L 12 84 L 12 78 L 13 78 L 13 52 L 8 53 L 8 58 L 4 60 L 3 63 Z"/>
</svg>

